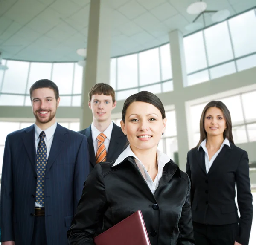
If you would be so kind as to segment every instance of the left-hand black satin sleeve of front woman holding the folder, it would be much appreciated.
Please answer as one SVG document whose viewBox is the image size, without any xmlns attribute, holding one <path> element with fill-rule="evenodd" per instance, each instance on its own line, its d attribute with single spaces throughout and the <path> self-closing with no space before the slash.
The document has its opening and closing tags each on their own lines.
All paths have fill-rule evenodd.
<svg viewBox="0 0 256 245">
<path fill-rule="evenodd" d="M 84 183 L 84 189 L 70 230 L 67 232 L 70 245 L 94 245 L 93 237 L 102 223 L 106 210 L 105 185 L 102 167 L 96 164 Z"/>
</svg>

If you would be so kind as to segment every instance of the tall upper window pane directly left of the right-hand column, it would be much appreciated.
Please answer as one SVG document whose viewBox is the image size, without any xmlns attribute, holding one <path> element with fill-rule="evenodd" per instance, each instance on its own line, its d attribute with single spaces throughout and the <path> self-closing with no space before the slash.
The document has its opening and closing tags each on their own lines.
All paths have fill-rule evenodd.
<svg viewBox="0 0 256 245">
<path fill-rule="evenodd" d="M 170 44 L 160 46 L 162 81 L 172 78 L 172 63 Z"/>
</svg>

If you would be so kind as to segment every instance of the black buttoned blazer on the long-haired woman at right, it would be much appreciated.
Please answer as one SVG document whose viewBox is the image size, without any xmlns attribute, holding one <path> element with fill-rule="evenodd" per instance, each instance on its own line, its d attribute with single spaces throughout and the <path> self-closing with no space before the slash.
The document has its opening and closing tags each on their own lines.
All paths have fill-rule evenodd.
<svg viewBox="0 0 256 245">
<path fill-rule="evenodd" d="M 230 142 L 224 145 L 206 173 L 204 150 L 188 152 L 186 173 L 191 180 L 192 218 L 194 222 L 225 225 L 239 222 L 236 241 L 247 245 L 253 217 L 247 152 Z M 237 201 L 241 217 L 238 218 Z"/>
</svg>

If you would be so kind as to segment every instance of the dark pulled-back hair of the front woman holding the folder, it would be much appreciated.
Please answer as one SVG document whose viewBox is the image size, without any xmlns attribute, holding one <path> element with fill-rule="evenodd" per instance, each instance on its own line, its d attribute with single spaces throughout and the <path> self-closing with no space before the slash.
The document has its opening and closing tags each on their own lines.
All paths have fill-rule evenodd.
<svg viewBox="0 0 256 245">
<path fill-rule="evenodd" d="M 157 107 L 157 109 L 160 110 L 160 112 L 161 112 L 162 118 L 163 119 L 166 118 L 163 103 L 162 103 L 162 101 L 160 101 L 160 98 L 158 98 L 157 95 L 154 95 L 151 92 L 140 91 L 137 94 L 129 96 L 125 100 L 125 103 L 124 103 L 124 106 L 123 106 L 123 109 L 122 109 L 122 121 L 125 121 L 125 114 L 126 114 L 127 108 L 134 101 L 145 102 L 145 103 L 153 105 L 154 107 Z"/>
</svg>

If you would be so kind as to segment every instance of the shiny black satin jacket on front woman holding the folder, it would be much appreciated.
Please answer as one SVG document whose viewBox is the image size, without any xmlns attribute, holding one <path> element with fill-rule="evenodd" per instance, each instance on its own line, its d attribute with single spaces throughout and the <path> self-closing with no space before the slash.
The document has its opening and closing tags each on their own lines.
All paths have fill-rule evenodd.
<svg viewBox="0 0 256 245">
<path fill-rule="evenodd" d="M 93 245 L 98 221 L 103 231 L 141 210 L 151 245 L 193 245 L 190 181 L 172 160 L 154 195 L 133 157 L 96 164 L 88 176 L 68 231 L 70 245 Z M 131 234 L 132 235 L 132 234 Z"/>
</svg>

